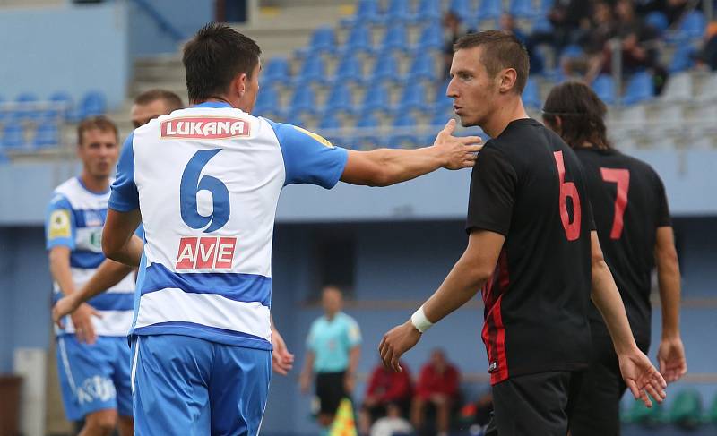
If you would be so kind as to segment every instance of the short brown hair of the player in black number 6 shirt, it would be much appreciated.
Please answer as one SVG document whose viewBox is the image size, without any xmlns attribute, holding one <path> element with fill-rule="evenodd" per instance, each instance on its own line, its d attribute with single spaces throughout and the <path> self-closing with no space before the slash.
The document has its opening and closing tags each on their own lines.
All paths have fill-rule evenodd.
<svg viewBox="0 0 717 436">
<path fill-rule="evenodd" d="M 484 47 L 480 62 L 486 66 L 490 77 L 496 77 L 505 68 L 513 68 L 517 73 L 514 90 L 518 95 L 523 93 L 530 73 L 530 59 L 528 50 L 513 32 L 486 30 L 469 33 L 455 42 L 454 51 L 473 47 Z"/>
</svg>

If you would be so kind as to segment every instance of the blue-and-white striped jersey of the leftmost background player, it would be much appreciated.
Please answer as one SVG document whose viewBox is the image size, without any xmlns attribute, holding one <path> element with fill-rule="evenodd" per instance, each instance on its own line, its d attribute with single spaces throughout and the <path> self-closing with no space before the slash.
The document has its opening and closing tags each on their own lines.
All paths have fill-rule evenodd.
<svg viewBox="0 0 717 436">
<path fill-rule="evenodd" d="M 53 192 L 46 219 L 47 247 L 64 245 L 70 252 L 75 291 L 79 291 L 92 277 L 99 264 L 105 260 L 102 254 L 102 227 L 107 218 L 107 192 L 91 192 L 82 185 L 79 177 L 60 184 Z M 62 294 L 57 283 L 53 285 L 53 303 Z M 130 274 L 106 293 L 88 302 L 100 314 L 92 317 L 95 332 L 100 336 L 126 336 L 132 326 L 134 305 L 134 279 Z M 70 317 L 65 317 L 65 329 L 55 328 L 57 334 L 74 333 Z"/>
</svg>

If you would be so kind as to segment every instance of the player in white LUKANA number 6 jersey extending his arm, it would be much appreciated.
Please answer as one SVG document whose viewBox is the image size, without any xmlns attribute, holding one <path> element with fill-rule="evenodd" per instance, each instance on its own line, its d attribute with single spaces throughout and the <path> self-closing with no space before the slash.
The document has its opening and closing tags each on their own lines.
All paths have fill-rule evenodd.
<svg viewBox="0 0 717 436">
<path fill-rule="evenodd" d="M 249 115 L 260 48 L 221 24 L 184 49 L 194 107 L 125 142 L 104 252 L 141 261 L 133 330 L 136 434 L 259 431 L 271 375 L 274 214 L 287 184 L 388 185 L 471 167 L 479 138 L 454 122 L 422 150 L 349 151 Z M 132 238 L 144 226 L 144 246 Z"/>
</svg>

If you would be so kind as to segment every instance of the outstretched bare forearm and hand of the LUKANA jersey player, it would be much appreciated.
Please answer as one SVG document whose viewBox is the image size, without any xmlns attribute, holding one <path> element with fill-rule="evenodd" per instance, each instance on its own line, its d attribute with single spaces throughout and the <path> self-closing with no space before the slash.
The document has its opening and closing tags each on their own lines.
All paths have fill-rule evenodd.
<svg viewBox="0 0 717 436">
<path fill-rule="evenodd" d="M 455 120 L 445 124 L 433 146 L 416 150 L 379 149 L 349 151 L 341 181 L 349 184 L 388 186 L 426 175 L 436 169 L 472 167 L 480 150 L 480 138 L 453 136 Z"/>
</svg>

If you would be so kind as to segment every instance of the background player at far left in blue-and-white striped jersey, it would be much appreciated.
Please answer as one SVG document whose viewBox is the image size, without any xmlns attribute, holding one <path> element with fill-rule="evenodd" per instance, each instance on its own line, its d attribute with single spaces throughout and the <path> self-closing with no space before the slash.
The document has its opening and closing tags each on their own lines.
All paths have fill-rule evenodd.
<svg viewBox="0 0 717 436">
<path fill-rule="evenodd" d="M 117 127 L 104 117 L 83 120 L 77 132 L 82 174 L 60 184 L 50 201 L 47 241 L 55 299 L 72 295 L 105 260 L 102 226 L 109 175 L 117 163 Z M 57 364 L 65 414 L 85 420 L 82 436 L 133 433 L 126 333 L 132 323 L 134 282 L 119 280 L 108 293 L 82 303 L 56 329 Z M 101 318 L 100 318 L 101 317 Z M 118 418 L 119 416 L 119 418 Z"/>
</svg>

